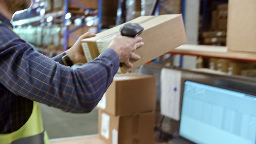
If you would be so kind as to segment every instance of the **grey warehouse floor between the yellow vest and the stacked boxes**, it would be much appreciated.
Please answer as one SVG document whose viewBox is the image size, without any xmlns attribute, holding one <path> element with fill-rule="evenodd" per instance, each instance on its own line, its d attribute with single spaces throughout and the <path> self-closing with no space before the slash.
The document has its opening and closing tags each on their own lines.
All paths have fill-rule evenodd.
<svg viewBox="0 0 256 144">
<path fill-rule="evenodd" d="M 96 134 L 98 110 L 89 114 L 65 113 L 59 109 L 40 104 L 44 127 L 50 139 Z"/>
</svg>

